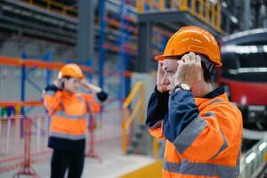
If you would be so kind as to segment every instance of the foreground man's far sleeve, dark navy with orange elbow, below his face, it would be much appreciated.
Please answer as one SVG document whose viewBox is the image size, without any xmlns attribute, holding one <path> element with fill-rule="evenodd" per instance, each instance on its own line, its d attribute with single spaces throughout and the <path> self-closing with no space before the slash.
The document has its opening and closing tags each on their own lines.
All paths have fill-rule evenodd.
<svg viewBox="0 0 267 178">
<path fill-rule="evenodd" d="M 160 139 L 164 138 L 162 122 L 167 113 L 168 98 L 169 93 L 160 93 L 157 87 L 155 87 L 155 91 L 151 94 L 148 105 L 146 125 L 149 127 L 150 134 Z"/>
</svg>

